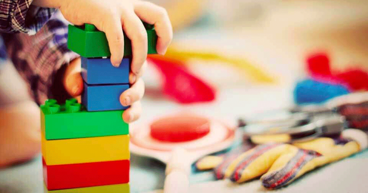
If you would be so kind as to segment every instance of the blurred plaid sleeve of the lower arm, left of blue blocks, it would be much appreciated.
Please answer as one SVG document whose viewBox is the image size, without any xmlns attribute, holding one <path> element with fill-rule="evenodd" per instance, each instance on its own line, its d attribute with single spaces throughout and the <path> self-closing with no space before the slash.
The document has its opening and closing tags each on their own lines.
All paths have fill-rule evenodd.
<svg viewBox="0 0 368 193">
<path fill-rule="evenodd" d="M 56 11 L 35 35 L 17 33 L 4 38 L 9 58 L 38 104 L 57 99 L 56 95 L 67 97 L 60 71 L 78 57 L 67 48 L 68 24 Z"/>
</svg>

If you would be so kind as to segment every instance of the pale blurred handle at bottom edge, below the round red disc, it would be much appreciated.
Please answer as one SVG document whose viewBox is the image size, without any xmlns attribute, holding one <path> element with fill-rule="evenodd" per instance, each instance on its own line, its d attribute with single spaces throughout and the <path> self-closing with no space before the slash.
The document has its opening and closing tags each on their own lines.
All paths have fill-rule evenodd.
<svg viewBox="0 0 368 193">
<path fill-rule="evenodd" d="M 174 149 L 166 165 L 164 193 L 188 193 L 191 163 L 188 151 Z"/>
</svg>

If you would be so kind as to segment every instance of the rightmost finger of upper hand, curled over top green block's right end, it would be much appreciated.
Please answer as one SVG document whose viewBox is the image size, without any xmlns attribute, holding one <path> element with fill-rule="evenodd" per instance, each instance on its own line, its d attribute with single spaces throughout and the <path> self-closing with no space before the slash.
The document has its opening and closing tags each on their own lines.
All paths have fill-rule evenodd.
<svg viewBox="0 0 368 193">
<path fill-rule="evenodd" d="M 173 27 L 166 10 L 147 1 L 137 1 L 134 11 L 146 23 L 155 25 L 158 35 L 156 49 L 164 55 L 173 39 Z"/>
</svg>

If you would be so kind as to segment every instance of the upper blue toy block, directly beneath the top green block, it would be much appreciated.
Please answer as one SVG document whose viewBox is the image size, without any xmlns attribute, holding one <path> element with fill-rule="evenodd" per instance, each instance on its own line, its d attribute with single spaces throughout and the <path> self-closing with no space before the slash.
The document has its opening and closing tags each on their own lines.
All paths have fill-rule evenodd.
<svg viewBox="0 0 368 193">
<path fill-rule="evenodd" d="M 128 84 L 130 59 L 124 58 L 119 67 L 110 58 L 81 58 L 82 77 L 89 85 Z"/>
</svg>

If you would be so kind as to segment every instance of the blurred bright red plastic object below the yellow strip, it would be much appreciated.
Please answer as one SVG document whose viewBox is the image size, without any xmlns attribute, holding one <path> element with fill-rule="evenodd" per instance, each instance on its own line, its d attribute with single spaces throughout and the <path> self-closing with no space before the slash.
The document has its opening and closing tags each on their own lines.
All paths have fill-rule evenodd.
<svg viewBox="0 0 368 193">
<path fill-rule="evenodd" d="M 210 102 L 215 99 L 215 89 L 194 76 L 184 62 L 164 56 L 149 56 L 163 74 L 163 92 L 181 104 Z"/>
</svg>

